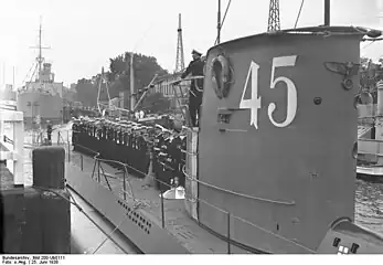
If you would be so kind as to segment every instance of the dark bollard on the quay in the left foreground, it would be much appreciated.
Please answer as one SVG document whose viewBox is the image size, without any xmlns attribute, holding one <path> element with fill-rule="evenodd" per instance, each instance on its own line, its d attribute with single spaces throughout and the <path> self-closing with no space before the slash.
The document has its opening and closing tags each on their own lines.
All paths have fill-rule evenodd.
<svg viewBox="0 0 383 265">
<path fill-rule="evenodd" d="M 32 155 L 33 187 L 41 191 L 41 254 L 70 254 L 71 204 L 65 190 L 65 150 L 41 147 Z"/>
</svg>

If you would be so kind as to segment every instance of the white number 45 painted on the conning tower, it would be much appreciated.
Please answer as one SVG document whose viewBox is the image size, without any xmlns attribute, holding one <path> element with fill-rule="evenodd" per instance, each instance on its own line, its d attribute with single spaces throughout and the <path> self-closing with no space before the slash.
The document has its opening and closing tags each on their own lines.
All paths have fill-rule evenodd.
<svg viewBox="0 0 383 265">
<path fill-rule="evenodd" d="M 297 61 L 297 55 L 273 59 L 270 88 L 272 89 L 275 88 L 275 86 L 279 82 L 285 83 L 287 86 L 287 116 L 285 121 L 278 124 L 274 120 L 273 113 L 276 109 L 275 103 L 270 103 L 267 108 L 268 118 L 270 119 L 272 124 L 276 127 L 286 127 L 292 123 L 297 114 L 297 88 L 291 80 L 285 76 L 275 77 L 275 70 L 277 67 L 295 66 L 296 61 Z M 259 65 L 252 61 L 248 73 L 247 73 L 245 87 L 243 89 L 241 102 L 240 102 L 240 108 L 251 109 L 251 126 L 254 126 L 256 129 L 258 129 L 258 108 L 262 107 L 260 97 L 258 97 L 258 85 L 259 85 L 258 72 L 259 72 Z M 245 94 L 246 94 L 248 82 L 252 82 L 252 85 L 249 86 L 251 98 L 246 99 Z"/>
</svg>

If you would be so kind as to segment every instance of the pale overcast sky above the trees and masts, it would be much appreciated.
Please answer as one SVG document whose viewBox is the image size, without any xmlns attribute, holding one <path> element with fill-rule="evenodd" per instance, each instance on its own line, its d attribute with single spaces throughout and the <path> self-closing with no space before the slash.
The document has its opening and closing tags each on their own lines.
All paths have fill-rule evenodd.
<svg viewBox="0 0 383 265">
<path fill-rule="evenodd" d="M 222 0 L 222 14 L 228 0 Z M 294 28 L 301 0 L 279 0 L 281 29 Z M 232 0 L 221 41 L 265 32 L 269 0 Z M 382 11 L 380 11 L 382 10 Z M 42 17 L 43 56 L 57 82 L 68 86 L 108 68 L 110 57 L 134 51 L 175 66 L 178 14 L 182 14 L 184 60 L 205 53 L 216 38 L 217 0 L 0 0 L 0 85 L 22 85 L 38 51 Z M 380 18 L 382 17 L 382 18 Z M 306 0 L 298 26 L 323 23 L 323 0 Z M 331 0 L 331 24 L 383 30 L 383 0 Z M 383 43 L 361 45 L 377 60 Z"/>
</svg>

